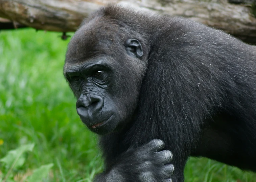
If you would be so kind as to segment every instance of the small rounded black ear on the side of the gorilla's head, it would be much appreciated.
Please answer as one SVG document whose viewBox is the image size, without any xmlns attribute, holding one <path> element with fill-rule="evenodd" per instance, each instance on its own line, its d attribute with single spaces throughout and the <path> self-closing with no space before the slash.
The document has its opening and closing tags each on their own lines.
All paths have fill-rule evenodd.
<svg viewBox="0 0 256 182">
<path fill-rule="evenodd" d="M 136 39 L 126 40 L 125 48 L 126 48 L 127 53 L 133 57 L 141 58 L 143 55 L 141 44 Z"/>
</svg>

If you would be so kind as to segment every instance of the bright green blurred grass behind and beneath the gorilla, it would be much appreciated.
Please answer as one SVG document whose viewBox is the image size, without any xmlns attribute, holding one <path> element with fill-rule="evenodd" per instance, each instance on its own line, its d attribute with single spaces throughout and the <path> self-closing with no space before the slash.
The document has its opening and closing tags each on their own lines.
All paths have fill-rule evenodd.
<svg viewBox="0 0 256 182">
<path fill-rule="evenodd" d="M 101 170 L 97 137 L 80 122 L 62 73 L 68 41 L 32 29 L 0 32 L 0 158 L 27 143 L 20 175 L 54 163 L 49 182 L 91 181 Z M 1 166 L 0 166 L 1 169 Z M 0 172 L 1 173 L 1 172 Z M 256 181 L 256 175 L 205 158 L 191 158 L 186 182 Z"/>
</svg>

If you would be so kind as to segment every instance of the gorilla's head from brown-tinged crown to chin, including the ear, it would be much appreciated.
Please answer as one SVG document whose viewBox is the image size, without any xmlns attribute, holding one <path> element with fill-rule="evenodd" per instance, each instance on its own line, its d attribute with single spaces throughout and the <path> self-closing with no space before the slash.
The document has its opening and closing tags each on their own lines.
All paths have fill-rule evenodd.
<svg viewBox="0 0 256 182">
<path fill-rule="evenodd" d="M 78 115 L 100 135 L 121 128 L 132 117 L 146 70 L 140 42 L 122 40 L 115 32 L 92 22 L 84 25 L 69 43 L 64 66 Z"/>
</svg>

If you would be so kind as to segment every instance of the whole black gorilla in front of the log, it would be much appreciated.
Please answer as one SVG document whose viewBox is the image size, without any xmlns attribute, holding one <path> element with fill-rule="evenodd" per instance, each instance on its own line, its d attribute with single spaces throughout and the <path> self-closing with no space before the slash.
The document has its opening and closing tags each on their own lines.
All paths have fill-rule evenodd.
<svg viewBox="0 0 256 182">
<path fill-rule="evenodd" d="M 182 182 L 191 155 L 256 171 L 256 47 L 109 5 L 76 31 L 64 75 L 101 135 L 106 171 L 95 181 Z"/>
</svg>

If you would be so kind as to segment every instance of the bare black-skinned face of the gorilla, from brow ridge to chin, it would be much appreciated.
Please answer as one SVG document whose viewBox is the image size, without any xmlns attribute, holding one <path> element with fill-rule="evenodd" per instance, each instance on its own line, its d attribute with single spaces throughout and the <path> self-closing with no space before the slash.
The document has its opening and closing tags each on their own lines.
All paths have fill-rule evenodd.
<svg viewBox="0 0 256 182">
<path fill-rule="evenodd" d="M 76 110 L 88 128 L 98 134 L 111 132 L 118 125 L 118 98 L 113 90 L 114 73 L 106 57 L 96 57 L 79 65 L 67 66 L 65 76 L 77 97 Z M 119 101 L 120 102 L 120 101 Z"/>
</svg>

